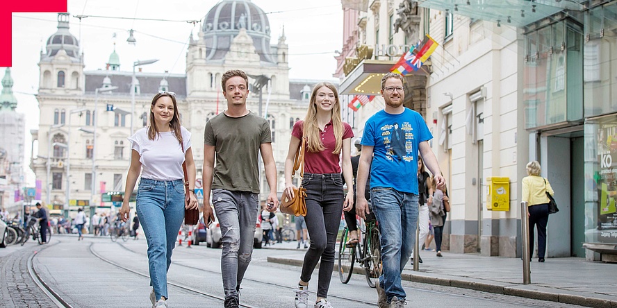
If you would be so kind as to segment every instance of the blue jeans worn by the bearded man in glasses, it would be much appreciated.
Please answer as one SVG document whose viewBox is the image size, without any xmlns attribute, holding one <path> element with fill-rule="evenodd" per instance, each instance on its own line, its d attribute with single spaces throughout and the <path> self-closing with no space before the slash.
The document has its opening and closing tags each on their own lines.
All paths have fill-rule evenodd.
<svg viewBox="0 0 617 308">
<path fill-rule="evenodd" d="M 381 231 L 381 261 L 383 273 L 379 277 L 388 302 L 394 296 L 406 297 L 401 273 L 416 243 L 418 225 L 418 195 L 389 187 L 374 187 L 370 191 L 372 208 Z"/>
</svg>

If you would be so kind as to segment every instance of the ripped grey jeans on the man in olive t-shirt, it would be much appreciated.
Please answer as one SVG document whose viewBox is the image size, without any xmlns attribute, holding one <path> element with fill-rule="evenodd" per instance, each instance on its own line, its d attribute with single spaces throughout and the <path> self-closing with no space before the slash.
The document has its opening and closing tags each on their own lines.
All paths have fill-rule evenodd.
<svg viewBox="0 0 617 308">
<path fill-rule="evenodd" d="M 212 190 L 212 203 L 221 226 L 221 271 L 225 298 L 238 298 L 253 253 L 258 194 L 250 191 Z"/>
</svg>

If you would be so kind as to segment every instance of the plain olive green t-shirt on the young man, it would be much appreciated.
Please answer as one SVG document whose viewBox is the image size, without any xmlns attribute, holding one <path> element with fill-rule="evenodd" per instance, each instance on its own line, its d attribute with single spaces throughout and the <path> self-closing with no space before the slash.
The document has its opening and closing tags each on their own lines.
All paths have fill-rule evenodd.
<svg viewBox="0 0 617 308">
<path fill-rule="evenodd" d="M 270 126 L 253 112 L 239 118 L 222 112 L 208 121 L 204 144 L 216 153 L 212 189 L 259 194 L 258 155 L 265 143 L 272 143 Z"/>
</svg>

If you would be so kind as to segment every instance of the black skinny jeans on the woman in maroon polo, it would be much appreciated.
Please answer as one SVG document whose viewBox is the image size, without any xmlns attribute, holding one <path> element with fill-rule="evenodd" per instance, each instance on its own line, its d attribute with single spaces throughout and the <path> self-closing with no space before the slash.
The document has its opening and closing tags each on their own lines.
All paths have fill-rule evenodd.
<svg viewBox="0 0 617 308">
<path fill-rule="evenodd" d="M 304 173 L 302 187 L 306 188 L 306 229 L 311 234 L 311 247 L 304 255 L 303 282 L 311 280 L 311 274 L 320 261 L 317 296 L 327 298 L 330 279 L 334 269 L 334 246 L 343 212 L 343 180 L 340 173 Z"/>
</svg>

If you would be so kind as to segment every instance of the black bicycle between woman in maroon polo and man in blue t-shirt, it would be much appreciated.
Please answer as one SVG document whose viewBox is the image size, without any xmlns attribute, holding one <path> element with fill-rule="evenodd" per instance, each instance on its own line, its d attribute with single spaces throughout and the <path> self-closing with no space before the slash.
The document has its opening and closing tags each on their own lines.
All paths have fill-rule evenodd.
<svg viewBox="0 0 617 308">
<path fill-rule="evenodd" d="M 364 268 L 366 282 L 371 288 L 379 283 L 381 276 L 381 243 L 379 238 L 379 226 L 377 219 L 372 212 L 366 215 L 364 223 L 358 223 L 360 241 L 356 245 L 347 247 L 349 229 L 347 226 L 340 234 L 340 246 L 338 248 L 338 277 L 340 282 L 346 284 L 354 272 L 354 263 L 360 264 Z"/>
</svg>

